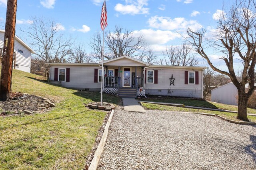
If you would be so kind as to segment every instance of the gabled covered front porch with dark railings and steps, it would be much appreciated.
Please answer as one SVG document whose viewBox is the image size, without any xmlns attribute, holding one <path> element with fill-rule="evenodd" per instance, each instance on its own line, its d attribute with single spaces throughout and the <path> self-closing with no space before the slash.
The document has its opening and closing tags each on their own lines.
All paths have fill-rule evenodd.
<svg viewBox="0 0 256 170">
<path fill-rule="evenodd" d="M 105 61 L 104 91 L 120 97 L 144 96 L 144 68 L 148 63 L 126 56 Z"/>
</svg>

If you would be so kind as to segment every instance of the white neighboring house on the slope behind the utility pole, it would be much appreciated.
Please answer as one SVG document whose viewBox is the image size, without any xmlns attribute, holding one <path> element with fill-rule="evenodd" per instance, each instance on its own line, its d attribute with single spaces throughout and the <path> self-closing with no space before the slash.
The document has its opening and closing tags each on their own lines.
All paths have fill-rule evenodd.
<svg viewBox="0 0 256 170">
<path fill-rule="evenodd" d="M 0 65 L 2 65 L 4 47 L 4 30 L 0 29 Z M 31 53 L 34 53 L 24 41 L 15 35 L 13 68 L 30 72 Z"/>
</svg>

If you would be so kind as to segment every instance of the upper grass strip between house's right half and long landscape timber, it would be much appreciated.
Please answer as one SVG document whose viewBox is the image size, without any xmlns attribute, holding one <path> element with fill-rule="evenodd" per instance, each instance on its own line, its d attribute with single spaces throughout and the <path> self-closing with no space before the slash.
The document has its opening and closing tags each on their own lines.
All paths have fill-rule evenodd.
<svg viewBox="0 0 256 170">
<path fill-rule="evenodd" d="M 196 107 L 206 107 L 212 109 L 224 109 L 224 110 L 231 110 L 237 111 L 237 106 L 227 105 L 227 104 L 220 104 L 215 102 L 208 102 L 205 100 L 190 100 L 190 99 L 146 99 L 145 101 L 150 102 L 164 102 L 164 103 L 175 103 L 175 104 L 184 104 L 186 106 L 196 106 Z M 247 108 L 248 113 L 256 114 L 256 109 Z"/>
</svg>

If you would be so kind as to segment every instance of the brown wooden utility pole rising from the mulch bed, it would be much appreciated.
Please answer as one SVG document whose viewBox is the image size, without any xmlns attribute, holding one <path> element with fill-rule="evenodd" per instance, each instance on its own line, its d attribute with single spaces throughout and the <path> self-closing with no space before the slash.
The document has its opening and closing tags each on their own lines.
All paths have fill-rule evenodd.
<svg viewBox="0 0 256 170">
<path fill-rule="evenodd" d="M 6 23 L 4 31 L 4 53 L 0 78 L 0 100 L 10 97 L 12 86 L 12 61 L 14 55 L 14 37 L 16 25 L 17 0 L 7 1 Z"/>
</svg>

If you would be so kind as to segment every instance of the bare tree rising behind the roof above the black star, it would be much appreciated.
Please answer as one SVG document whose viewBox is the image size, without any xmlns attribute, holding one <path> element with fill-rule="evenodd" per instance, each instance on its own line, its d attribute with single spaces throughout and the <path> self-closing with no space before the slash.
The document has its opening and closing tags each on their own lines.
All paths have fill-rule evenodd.
<svg viewBox="0 0 256 170">
<path fill-rule="evenodd" d="M 183 43 L 181 46 L 171 46 L 163 51 L 164 61 L 162 64 L 172 66 L 196 66 L 198 64 L 198 59 L 194 55 L 194 51 Z"/>
</svg>

